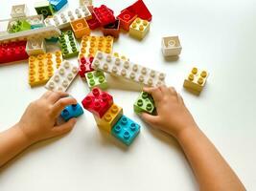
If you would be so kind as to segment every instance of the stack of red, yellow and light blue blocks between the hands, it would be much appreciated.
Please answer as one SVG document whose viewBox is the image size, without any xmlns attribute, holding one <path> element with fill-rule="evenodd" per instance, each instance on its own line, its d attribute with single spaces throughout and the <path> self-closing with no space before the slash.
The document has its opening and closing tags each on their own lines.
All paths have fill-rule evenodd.
<svg viewBox="0 0 256 191">
<path fill-rule="evenodd" d="M 140 131 L 140 125 L 123 115 L 123 108 L 113 103 L 113 97 L 99 88 L 92 89 L 82 100 L 82 106 L 93 114 L 99 128 L 129 145 Z"/>
</svg>

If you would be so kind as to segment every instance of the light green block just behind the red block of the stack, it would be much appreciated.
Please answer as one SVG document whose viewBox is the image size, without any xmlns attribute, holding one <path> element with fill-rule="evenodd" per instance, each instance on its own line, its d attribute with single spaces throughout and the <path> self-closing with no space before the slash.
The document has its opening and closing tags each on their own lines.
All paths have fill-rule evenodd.
<svg viewBox="0 0 256 191">
<path fill-rule="evenodd" d="M 85 74 L 87 84 L 92 90 L 94 87 L 105 90 L 107 88 L 107 82 L 105 80 L 105 74 L 101 71 L 93 71 Z"/>
</svg>

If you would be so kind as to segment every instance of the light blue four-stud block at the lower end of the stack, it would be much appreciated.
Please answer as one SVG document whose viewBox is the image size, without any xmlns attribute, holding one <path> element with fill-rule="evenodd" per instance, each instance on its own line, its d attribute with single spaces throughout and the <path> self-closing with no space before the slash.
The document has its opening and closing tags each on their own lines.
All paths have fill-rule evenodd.
<svg viewBox="0 0 256 191">
<path fill-rule="evenodd" d="M 126 116 L 121 117 L 111 130 L 111 134 L 129 145 L 140 132 L 140 125 Z"/>
</svg>

